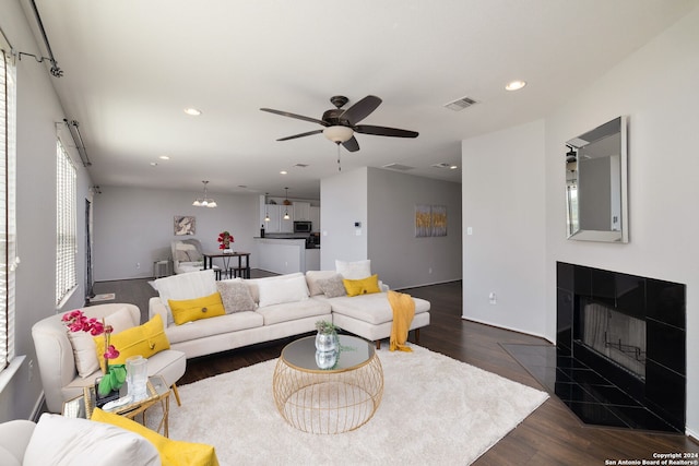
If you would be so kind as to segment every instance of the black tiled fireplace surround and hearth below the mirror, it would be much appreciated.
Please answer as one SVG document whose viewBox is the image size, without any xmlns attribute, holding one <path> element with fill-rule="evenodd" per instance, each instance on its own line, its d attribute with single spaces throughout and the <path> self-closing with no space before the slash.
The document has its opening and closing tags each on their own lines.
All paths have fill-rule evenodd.
<svg viewBox="0 0 699 466">
<path fill-rule="evenodd" d="M 685 432 L 686 286 L 557 263 L 557 345 L 503 345 L 583 422 Z"/>
</svg>

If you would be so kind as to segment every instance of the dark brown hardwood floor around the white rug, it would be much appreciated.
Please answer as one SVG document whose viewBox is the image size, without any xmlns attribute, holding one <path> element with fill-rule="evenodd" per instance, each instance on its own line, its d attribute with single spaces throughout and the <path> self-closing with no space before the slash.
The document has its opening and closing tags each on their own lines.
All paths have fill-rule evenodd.
<svg viewBox="0 0 699 466">
<path fill-rule="evenodd" d="M 252 277 L 264 274 L 253 271 Z M 541 345 L 546 342 L 461 319 L 461 282 L 453 282 L 403 290 L 431 302 L 431 322 L 420 331 L 419 345 L 525 385 L 545 390 L 500 344 Z M 95 284 L 95 292 L 116 292 L 116 302 L 139 306 L 144 319 L 147 300 L 156 296 L 146 279 L 98 283 Z M 276 358 L 284 345 L 295 338 L 190 359 L 187 361 L 187 373 L 179 384 Z M 411 334 L 411 340 L 413 338 L 414 335 Z M 459 432 L 454 432 L 454 435 L 458 434 Z M 607 459 L 641 462 L 654 459 L 654 453 L 689 452 L 699 453 L 699 444 L 685 435 L 584 426 L 559 399 L 552 396 L 475 464 L 604 465 Z"/>
</svg>

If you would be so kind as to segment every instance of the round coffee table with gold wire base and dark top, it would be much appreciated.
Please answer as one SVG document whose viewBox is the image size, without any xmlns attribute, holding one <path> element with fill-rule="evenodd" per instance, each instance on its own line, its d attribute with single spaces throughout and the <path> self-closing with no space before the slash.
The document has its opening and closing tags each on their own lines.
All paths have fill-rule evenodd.
<svg viewBox="0 0 699 466">
<path fill-rule="evenodd" d="M 274 369 L 272 391 L 282 417 L 311 433 L 341 433 L 371 419 L 383 395 L 383 369 L 374 345 L 339 335 L 335 365 L 320 369 L 316 338 L 284 347 Z"/>
</svg>

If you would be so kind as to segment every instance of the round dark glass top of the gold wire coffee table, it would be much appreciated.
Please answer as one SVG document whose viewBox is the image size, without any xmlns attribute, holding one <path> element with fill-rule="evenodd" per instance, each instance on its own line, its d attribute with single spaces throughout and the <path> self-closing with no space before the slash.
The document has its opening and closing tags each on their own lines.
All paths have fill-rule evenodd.
<svg viewBox="0 0 699 466">
<path fill-rule="evenodd" d="M 340 351 L 331 369 L 320 369 L 316 362 L 316 336 L 292 342 L 282 350 L 282 359 L 303 371 L 341 372 L 366 365 L 374 357 L 374 346 L 362 338 L 337 335 Z"/>
</svg>

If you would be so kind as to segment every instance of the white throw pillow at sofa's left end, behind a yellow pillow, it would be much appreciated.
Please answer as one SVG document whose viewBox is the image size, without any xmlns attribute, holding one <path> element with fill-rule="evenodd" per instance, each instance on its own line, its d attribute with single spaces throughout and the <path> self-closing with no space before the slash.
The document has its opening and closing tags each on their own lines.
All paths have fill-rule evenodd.
<svg viewBox="0 0 699 466">
<path fill-rule="evenodd" d="M 163 306 L 167 309 L 168 326 L 174 324 L 173 312 L 167 304 L 168 299 L 173 301 L 197 299 L 218 291 L 216 277 L 211 268 L 158 278 L 153 282 L 153 286 L 157 289 Z"/>
</svg>

